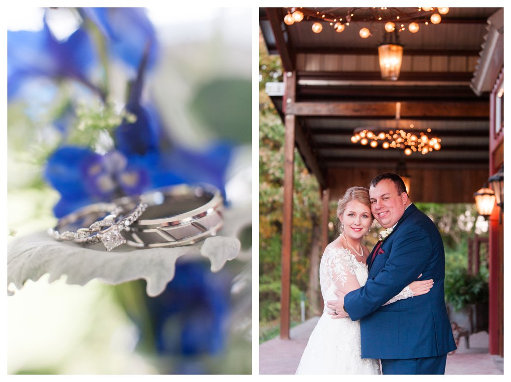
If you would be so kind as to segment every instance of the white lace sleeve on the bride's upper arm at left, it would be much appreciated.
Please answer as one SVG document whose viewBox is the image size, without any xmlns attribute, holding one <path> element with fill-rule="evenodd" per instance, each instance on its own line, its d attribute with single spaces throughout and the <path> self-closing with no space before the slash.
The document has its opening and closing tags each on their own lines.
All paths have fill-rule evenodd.
<svg viewBox="0 0 511 382">
<path fill-rule="evenodd" d="M 342 248 L 331 248 L 327 251 L 326 260 L 329 279 L 335 283 L 336 289 L 348 293 L 360 288 L 351 254 Z"/>
</svg>

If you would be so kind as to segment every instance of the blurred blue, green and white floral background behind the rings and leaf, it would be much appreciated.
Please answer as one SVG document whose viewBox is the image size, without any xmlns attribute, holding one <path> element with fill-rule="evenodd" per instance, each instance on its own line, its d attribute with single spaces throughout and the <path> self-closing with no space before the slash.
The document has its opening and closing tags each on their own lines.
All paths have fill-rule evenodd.
<svg viewBox="0 0 511 382">
<path fill-rule="evenodd" d="M 250 8 L 8 13 L 8 242 L 183 182 L 251 211 Z M 8 373 L 251 373 L 240 232 L 243 256 L 218 273 L 184 259 L 154 298 L 145 281 L 28 281 L 8 299 Z"/>
</svg>

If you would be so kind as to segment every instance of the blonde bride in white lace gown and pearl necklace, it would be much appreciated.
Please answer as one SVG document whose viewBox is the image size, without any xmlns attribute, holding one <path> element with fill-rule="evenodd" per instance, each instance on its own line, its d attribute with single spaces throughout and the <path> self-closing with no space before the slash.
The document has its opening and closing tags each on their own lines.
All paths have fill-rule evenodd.
<svg viewBox="0 0 511 382">
<path fill-rule="evenodd" d="M 337 298 L 335 290 L 348 293 L 367 280 L 369 251 L 361 245 L 362 237 L 373 223 L 367 188 L 347 189 L 339 199 L 337 217 L 341 234 L 327 246 L 319 266 L 325 308 L 296 374 L 380 374 L 379 360 L 360 357 L 359 321 L 349 317 L 334 320 L 327 312 L 327 300 Z M 428 293 L 432 285 L 433 280 L 414 281 L 386 304 Z"/>
</svg>

